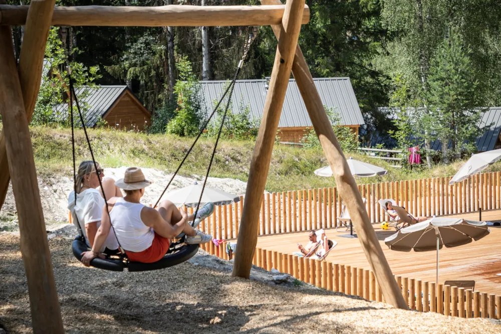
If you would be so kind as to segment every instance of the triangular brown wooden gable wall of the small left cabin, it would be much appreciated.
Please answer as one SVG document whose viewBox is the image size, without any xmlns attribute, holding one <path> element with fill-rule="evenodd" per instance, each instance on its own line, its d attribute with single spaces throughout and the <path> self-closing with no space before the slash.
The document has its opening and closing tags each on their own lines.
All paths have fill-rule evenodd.
<svg viewBox="0 0 501 334">
<path fill-rule="evenodd" d="M 151 116 L 140 102 L 127 90 L 111 106 L 103 117 L 110 127 L 123 130 L 143 131 L 146 124 L 150 124 Z M 118 124 L 118 125 L 117 125 Z"/>
</svg>

